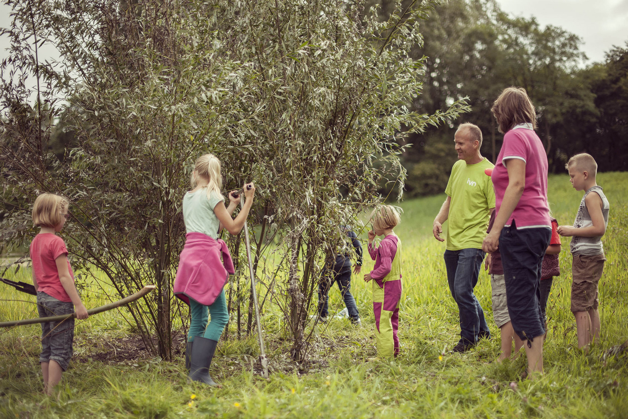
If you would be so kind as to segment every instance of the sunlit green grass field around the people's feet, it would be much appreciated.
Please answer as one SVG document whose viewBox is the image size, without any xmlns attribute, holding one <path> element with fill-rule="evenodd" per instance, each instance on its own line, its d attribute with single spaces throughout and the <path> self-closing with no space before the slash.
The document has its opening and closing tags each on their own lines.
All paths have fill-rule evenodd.
<svg viewBox="0 0 628 419">
<path fill-rule="evenodd" d="M 627 418 L 628 355 L 605 353 L 628 339 L 628 173 L 602 173 L 598 183 L 611 205 L 604 237 L 608 261 L 600 281 L 602 337 L 588 354 L 578 351 L 569 311 L 571 257 L 568 239 L 563 239 L 562 275 L 555 278 L 548 302 L 546 374 L 538 381 L 519 378 L 524 357 L 503 365 L 492 362 L 499 354 L 499 337 L 482 340 L 465 354 L 449 352 L 458 339 L 458 312 L 447 287 L 445 244 L 431 237 L 443 195 L 401 204 L 404 214 L 396 232 L 404 242 L 402 352 L 395 362 L 365 362 L 375 354 L 371 291 L 354 276 L 352 291 L 364 327 L 332 320 L 326 329 L 317 329 L 311 359 L 322 367 L 298 373 L 290 366 L 289 342 L 279 339 L 279 316 L 269 306 L 263 322 L 271 377 L 266 381 L 251 373 L 254 337 L 228 340 L 221 342 L 210 371 L 223 384 L 220 389 L 187 383 L 182 359 L 98 361 L 131 336 L 124 312 L 108 312 L 77 322 L 75 358 L 58 397 L 48 398 L 41 394 L 40 327 L 0 330 L 0 417 Z M 559 224 L 573 222 L 581 198 L 566 175 L 550 177 L 549 201 Z M 372 267 L 368 259 L 366 255 L 366 269 Z M 16 277 L 28 281 L 30 272 L 21 269 Z M 84 291 L 87 307 L 101 303 L 97 289 Z M 484 271 L 475 293 L 492 334 L 499 336 Z M 33 300 L 4 286 L 0 298 Z M 0 321 L 34 317 L 34 307 L 3 301 Z M 333 288 L 330 310 L 342 307 Z"/>
</svg>

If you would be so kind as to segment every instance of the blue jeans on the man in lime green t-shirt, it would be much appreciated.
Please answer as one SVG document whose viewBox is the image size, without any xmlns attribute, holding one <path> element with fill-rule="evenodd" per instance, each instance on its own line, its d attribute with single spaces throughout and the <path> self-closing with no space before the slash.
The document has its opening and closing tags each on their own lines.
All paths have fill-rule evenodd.
<svg viewBox="0 0 628 419">
<path fill-rule="evenodd" d="M 480 337 L 490 337 L 484 311 L 473 293 L 484 252 L 482 249 L 446 250 L 444 257 L 449 290 L 460 314 L 458 343 L 474 345 Z"/>
</svg>

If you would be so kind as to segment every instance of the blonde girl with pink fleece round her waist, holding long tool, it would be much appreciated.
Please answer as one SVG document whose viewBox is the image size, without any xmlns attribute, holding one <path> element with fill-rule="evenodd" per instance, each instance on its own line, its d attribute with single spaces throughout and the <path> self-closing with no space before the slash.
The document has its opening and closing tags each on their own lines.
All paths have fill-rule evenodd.
<svg viewBox="0 0 628 419">
<path fill-rule="evenodd" d="M 181 251 L 174 285 L 175 296 L 190 306 L 190 330 L 185 351 L 188 379 L 217 386 L 209 375 L 209 367 L 222 330 L 229 322 L 224 286 L 234 266 L 227 244 L 218 239 L 224 227 L 238 234 L 249 215 L 255 187 L 244 185 L 246 202 L 231 218 L 240 197 L 229 193 L 229 208 L 225 208 L 220 193 L 222 175 L 220 160 L 212 154 L 200 156 L 192 172 L 192 190 L 183 197 L 183 221 L 187 234 Z M 234 191 L 235 192 L 235 191 Z M 220 256 L 222 255 L 222 261 Z M 212 319 L 207 323 L 208 315 Z"/>
</svg>

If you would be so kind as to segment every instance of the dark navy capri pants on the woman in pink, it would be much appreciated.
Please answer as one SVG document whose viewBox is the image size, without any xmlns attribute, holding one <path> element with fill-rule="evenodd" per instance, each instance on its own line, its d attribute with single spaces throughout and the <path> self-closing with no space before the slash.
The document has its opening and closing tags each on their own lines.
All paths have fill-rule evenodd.
<svg viewBox="0 0 628 419">
<path fill-rule="evenodd" d="M 512 329 L 528 347 L 534 337 L 545 334 L 541 312 L 541 264 L 549 246 L 551 229 L 517 229 L 515 220 L 499 236 L 499 253 L 506 280 L 506 303 Z"/>
</svg>

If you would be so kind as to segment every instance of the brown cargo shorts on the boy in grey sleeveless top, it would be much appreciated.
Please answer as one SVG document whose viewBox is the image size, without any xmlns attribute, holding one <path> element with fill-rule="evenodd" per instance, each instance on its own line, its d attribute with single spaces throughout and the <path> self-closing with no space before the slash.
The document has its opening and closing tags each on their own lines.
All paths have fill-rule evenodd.
<svg viewBox="0 0 628 419">
<path fill-rule="evenodd" d="M 586 312 L 598 306 L 597 283 L 604 271 L 604 253 L 576 254 L 571 262 L 571 312 Z"/>
</svg>

